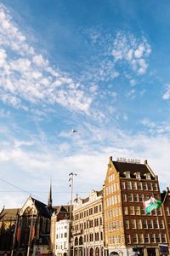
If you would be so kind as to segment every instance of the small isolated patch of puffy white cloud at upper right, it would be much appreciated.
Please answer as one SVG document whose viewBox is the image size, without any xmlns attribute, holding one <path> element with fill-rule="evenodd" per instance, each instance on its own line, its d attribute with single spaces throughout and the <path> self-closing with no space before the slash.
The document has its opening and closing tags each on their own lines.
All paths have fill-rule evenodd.
<svg viewBox="0 0 170 256">
<path fill-rule="evenodd" d="M 111 55 L 115 62 L 127 62 L 135 73 L 141 75 L 147 70 L 150 52 L 150 44 L 145 38 L 137 39 L 133 35 L 118 32 L 113 42 Z"/>
</svg>

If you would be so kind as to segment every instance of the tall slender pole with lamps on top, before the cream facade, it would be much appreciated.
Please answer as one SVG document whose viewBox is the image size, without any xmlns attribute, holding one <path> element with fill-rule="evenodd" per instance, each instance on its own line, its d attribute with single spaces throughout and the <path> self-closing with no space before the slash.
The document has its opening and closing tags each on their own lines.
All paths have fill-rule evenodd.
<svg viewBox="0 0 170 256">
<path fill-rule="evenodd" d="M 77 173 L 71 172 L 69 174 L 69 182 L 71 187 L 71 207 L 70 207 L 70 229 L 69 229 L 69 256 L 71 256 L 71 228 L 72 228 L 72 196 L 73 196 L 73 186 L 74 186 L 74 176 L 77 176 Z M 74 255 L 74 246 L 73 246 L 73 255 Z"/>
</svg>

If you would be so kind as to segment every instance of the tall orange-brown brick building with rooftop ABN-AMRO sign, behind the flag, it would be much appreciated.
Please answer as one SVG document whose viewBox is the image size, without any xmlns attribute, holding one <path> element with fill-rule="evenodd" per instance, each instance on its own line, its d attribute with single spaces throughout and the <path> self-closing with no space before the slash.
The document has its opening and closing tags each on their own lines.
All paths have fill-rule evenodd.
<svg viewBox="0 0 170 256">
<path fill-rule="evenodd" d="M 146 215 L 143 200 L 160 200 L 158 177 L 147 160 L 110 157 L 104 187 L 105 250 L 111 255 L 159 255 L 167 246 L 161 208 Z"/>
</svg>

